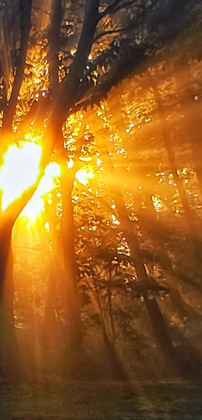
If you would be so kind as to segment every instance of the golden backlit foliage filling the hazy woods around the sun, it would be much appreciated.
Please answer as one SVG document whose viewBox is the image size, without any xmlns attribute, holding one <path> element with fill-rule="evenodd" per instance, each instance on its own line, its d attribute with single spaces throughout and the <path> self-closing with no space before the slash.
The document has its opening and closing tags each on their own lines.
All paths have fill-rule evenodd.
<svg viewBox="0 0 202 420">
<path fill-rule="evenodd" d="M 45 156 L 39 179 L 50 159 L 63 165 L 62 176 L 64 164 L 69 168 L 66 190 L 61 176 L 61 183 L 45 197 L 41 226 L 36 228 L 45 251 L 40 251 L 37 262 L 33 258 L 28 264 L 24 253 L 19 265 L 15 263 L 15 315 L 19 323 L 32 319 L 33 325 L 41 327 L 49 288 L 54 285 L 54 321 L 48 326 L 51 330 L 52 322 L 57 323 L 63 331 L 60 339 L 67 345 L 69 325 L 74 322 L 68 314 L 75 314 L 68 292 L 71 281 L 76 281 L 76 267 L 83 336 L 97 328 L 103 342 L 107 336 L 113 349 L 123 348 L 126 340 L 150 354 L 155 343 L 144 310 L 145 288 L 159 302 L 173 337 L 172 329 L 188 331 L 189 315 L 195 311 L 201 315 L 200 263 L 194 253 L 201 246 L 196 227 L 201 223 L 196 156 L 199 107 L 197 121 L 189 118 L 189 108 L 193 116 L 192 109 L 201 100 L 199 43 L 193 52 L 193 24 L 200 31 L 201 5 L 188 0 L 141 5 L 114 0 L 102 6 L 95 1 L 86 6 L 66 1 L 61 5 L 55 2 L 50 25 L 43 30 L 39 28 L 43 12 L 37 6 L 33 9 L 34 25 L 27 39 L 26 61 L 20 66 L 16 104 L 13 92 L 21 36 L 27 28 L 21 21 L 25 10 L 18 11 L 20 23 L 17 20 L 11 26 L 10 66 L 6 68 L 3 62 L 1 68 L 3 152 L 13 140 L 37 139 Z M 14 16 L 5 6 L 1 8 L 8 25 Z M 191 73 L 188 87 L 179 83 L 184 63 Z M 15 115 L 8 119 L 11 106 Z M 191 123 L 196 126 L 194 133 Z M 12 227 L 37 185 L 5 212 L 10 221 L 12 209 Z M 120 196 L 146 269 L 144 285 L 123 232 Z M 197 219 L 193 230 L 187 223 L 187 209 Z M 72 224 L 64 226 L 64 220 Z M 22 234 L 20 225 L 19 229 Z M 33 241 L 39 247 L 41 242 L 34 235 Z"/>
</svg>

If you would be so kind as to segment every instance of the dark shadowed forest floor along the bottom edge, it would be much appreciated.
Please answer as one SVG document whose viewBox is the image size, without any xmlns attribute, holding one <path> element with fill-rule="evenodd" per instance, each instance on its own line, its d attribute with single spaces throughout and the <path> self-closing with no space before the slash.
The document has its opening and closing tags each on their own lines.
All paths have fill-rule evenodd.
<svg viewBox="0 0 202 420">
<path fill-rule="evenodd" d="M 202 385 L 117 382 L 0 384 L 1 420 L 202 419 Z"/>
</svg>

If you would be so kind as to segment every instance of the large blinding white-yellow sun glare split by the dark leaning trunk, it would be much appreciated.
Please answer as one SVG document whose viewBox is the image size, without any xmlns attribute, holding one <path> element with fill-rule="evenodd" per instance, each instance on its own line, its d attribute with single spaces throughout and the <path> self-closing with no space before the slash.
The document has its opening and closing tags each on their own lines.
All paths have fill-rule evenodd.
<svg viewBox="0 0 202 420">
<path fill-rule="evenodd" d="M 0 170 L 0 188 L 2 189 L 2 210 L 20 198 L 24 191 L 34 185 L 40 170 L 42 146 L 35 142 L 22 141 L 19 146 L 13 144 L 4 155 L 4 164 Z M 44 211 L 44 195 L 56 187 L 55 178 L 61 174 L 60 166 L 50 162 L 45 174 L 31 200 L 23 209 L 21 216 L 35 220 Z"/>
</svg>

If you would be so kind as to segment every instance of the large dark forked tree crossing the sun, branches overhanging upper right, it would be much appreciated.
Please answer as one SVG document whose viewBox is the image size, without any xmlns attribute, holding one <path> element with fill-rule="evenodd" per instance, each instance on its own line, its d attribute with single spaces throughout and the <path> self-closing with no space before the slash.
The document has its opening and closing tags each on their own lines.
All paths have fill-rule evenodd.
<svg viewBox="0 0 202 420">
<path fill-rule="evenodd" d="M 50 28 L 45 34 L 48 39 L 49 95 L 45 95 L 44 100 L 41 98 L 40 101 L 35 100 L 35 95 L 32 95 L 27 103 L 26 118 L 24 119 L 24 124 L 26 121 L 34 121 L 36 127 L 41 124 L 41 120 L 48 119 L 46 128 L 42 128 L 41 168 L 35 185 L 29 187 L 21 197 L 14 200 L 1 213 L 1 307 L 14 223 L 36 190 L 54 148 L 56 145 L 58 147 L 58 144 L 63 147 L 62 127 L 67 117 L 88 105 L 93 107 L 103 96 L 107 95 L 112 86 L 126 77 L 132 69 L 142 65 L 145 61 L 148 62 L 148 58 L 163 48 L 165 42 L 175 37 L 185 22 L 182 19 L 179 25 L 177 14 L 188 7 L 189 3 L 191 6 L 191 2 L 188 0 L 180 1 L 177 5 L 171 0 L 170 2 L 164 1 L 163 4 L 156 0 L 151 4 L 146 2 L 142 9 L 139 8 L 135 0 L 129 2 L 114 0 L 114 2 L 106 2 L 105 6 L 101 6 L 99 0 L 86 0 L 85 5 L 80 7 L 79 13 L 74 2 L 67 2 L 64 7 L 61 0 L 55 0 L 53 3 Z M 16 116 L 18 116 L 18 106 L 21 101 L 19 98 L 29 59 L 28 48 L 31 46 L 31 42 L 32 44 L 35 42 L 33 41 L 35 34 L 31 25 L 32 7 L 31 0 L 16 2 L 15 12 L 17 11 L 17 13 L 14 15 L 14 9 L 11 11 L 6 6 L 1 6 L 1 14 L 6 24 L 9 26 L 11 22 L 12 35 L 12 39 L 8 43 L 7 54 L 3 55 L 5 65 L 2 68 L 4 118 L 1 129 L 3 139 L 1 161 L 5 151 L 13 142 L 12 126 L 13 120 L 16 120 Z M 170 10 L 175 13 L 172 23 L 168 17 Z M 72 11 L 74 12 L 73 18 L 76 17 L 73 22 L 71 22 Z M 154 15 L 153 12 L 155 12 Z M 20 24 L 16 20 L 17 16 Z M 64 22 L 67 31 L 64 28 Z M 167 29 L 168 22 L 170 23 L 169 29 Z M 67 51 L 62 48 L 62 56 L 59 56 L 62 31 L 65 33 L 64 39 L 62 39 L 63 45 L 65 44 L 65 48 L 67 46 Z M 144 32 L 146 36 L 144 36 Z M 71 49 L 72 33 L 76 51 Z M 152 35 L 149 40 L 148 35 Z M 17 41 L 14 42 L 15 38 Z M 139 38 L 142 39 L 140 44 L 139 41 L 137 42 Z M 1 47 L 5 47 L 4 41 Z M 45 47 L 43 46 L 43 48 Z M 12 52 L 9 57 L 8 51 Z M 148 66 L 148 64 L 146 65 Z M 56 114 L 57 119 L 55 118 Z M 19 133 L 20 129 L 17 131 L 17 137 Z M 17 137 L 15 141 L 18 141 Z"/>
</svg>

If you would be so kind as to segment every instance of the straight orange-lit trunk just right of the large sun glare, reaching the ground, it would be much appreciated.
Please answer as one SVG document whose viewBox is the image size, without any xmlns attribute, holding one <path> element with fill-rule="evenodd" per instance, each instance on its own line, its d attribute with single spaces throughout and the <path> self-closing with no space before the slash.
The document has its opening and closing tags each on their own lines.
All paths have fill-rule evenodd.
<svg viewBox="0 0 202 420">
<path fill-rule="evenodd" d="M 77 270 L 75 260 L 74 206 L 71 202 L 73 180 L 71 171 L 63 161 L 61 191 L 63 197 L 63 217 L 60 232 L 60 252 L 63 255 L 66 297 L 65 345 L 67 368 L 70 376 L 79 374 L 81 362 L 81 314 L 80 298 L 77 289 Z"/>
</svg>

